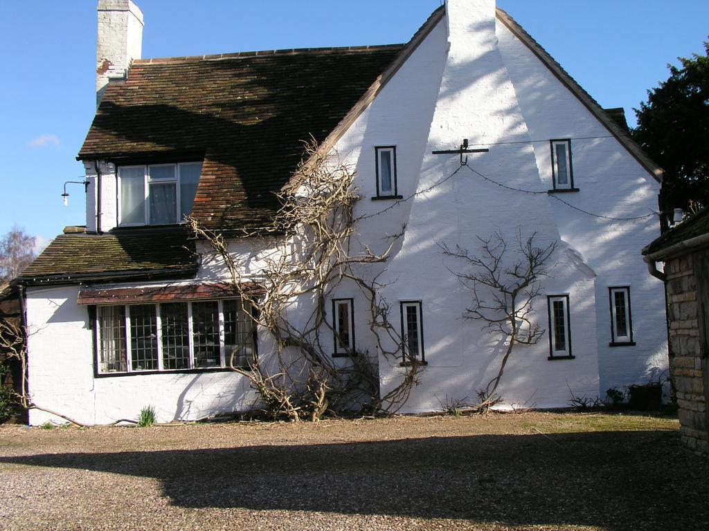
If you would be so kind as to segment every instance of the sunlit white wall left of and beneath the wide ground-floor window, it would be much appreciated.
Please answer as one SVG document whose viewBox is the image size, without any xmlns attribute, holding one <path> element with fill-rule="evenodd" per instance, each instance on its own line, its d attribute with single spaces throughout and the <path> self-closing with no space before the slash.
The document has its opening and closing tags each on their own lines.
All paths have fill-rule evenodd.
<svg viewBox="0 0 709 531">
<path fill-rule="evenodd" d="M 87 424 L 138 417 L 154 406 L 157 421 L 189 421 L 213 413 L 245 411 L 256 396 L 233 372 L 125 375 L 94 378 L 89 314 L 77 287 L 29 288 L 28 375 L 33 401 Z M 30 411 L 30 424 L 63 423 Z"/>
</svg>

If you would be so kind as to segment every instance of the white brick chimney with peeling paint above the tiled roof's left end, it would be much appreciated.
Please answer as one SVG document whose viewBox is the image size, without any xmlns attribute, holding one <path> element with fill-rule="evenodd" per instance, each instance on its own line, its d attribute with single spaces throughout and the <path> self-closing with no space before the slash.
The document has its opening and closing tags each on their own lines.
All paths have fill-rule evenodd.
<svg viewBox="0 0 709 531">
<path fill-rule="evenodd" d="M 111 77 L 123 77 L 143 45 L 143 12 L 131 0 L 99 0 L 96 106 Z"/>
</svg>

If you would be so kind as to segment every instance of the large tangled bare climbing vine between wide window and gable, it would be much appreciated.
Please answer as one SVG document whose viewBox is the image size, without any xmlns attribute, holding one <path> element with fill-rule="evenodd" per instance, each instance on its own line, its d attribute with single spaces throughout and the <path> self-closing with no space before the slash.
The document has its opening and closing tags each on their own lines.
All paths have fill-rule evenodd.
<svg viewBox="0 0 709 531">
<path fill-rule="evenodd" d="M 242 312 L 274 343 L 271 351 L 244 362 L 239 355 L 244 342 L 233 349 L 229 365 L 249 379 L 260 407 L 272 418 L 316 421 L 328 412 L 391 413 L 408 399 L 422 366 L 416 359 L 403 359 L 405 338 L 389 321 L 391 308 L 380 295 L 384 285 L 376 273 L 404 227 L 384 239 L 381 251 L 360 242 L 357 224 L 362 217 L 355 215 L 360 196 L 352 167 L 336 152 L 314 144 L 307 146 L 307 155 L 279 192 L 281 208 L 272 225 L 240 234 L 250 246 L 248 257 L 235 251 L 234 239 L 189 219 L 194 234 L 211 249 L 211 258 L 228 271 Z M 247 273 L 247 261 L 258 264 L 254 273 Z M 328 303 L 344 283 L 363 295 L 369 343 L 377 352 L 342 344 L 345 356 L 333 358 L 337 333 Z M 384 396 L 379 392 L 379 359 L 403 365 L 398 385 Z"/>
</svg>

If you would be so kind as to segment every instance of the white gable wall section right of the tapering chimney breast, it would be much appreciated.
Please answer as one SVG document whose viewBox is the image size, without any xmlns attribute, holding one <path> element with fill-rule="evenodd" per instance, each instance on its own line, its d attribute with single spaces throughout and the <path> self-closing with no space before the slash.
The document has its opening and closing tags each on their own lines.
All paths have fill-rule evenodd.
<svg viewBox="0 0 709 531">
<path fill-rule="evenodd" d="M 571 137 L 574 185 L 581 191 L 559 197 L 607 217 L 640 217 L 657 211 L 659 183 L 539 59 L 503 25 L 497 24 L 499 49 L 513 80 L 533 140 L 540 176 L 552 188 L 548 139 Z M 617 222 L 588 216 L 550 198 L 559 234 L 596 272 L 596 319 L 600 387 L 644 384 L 667 376 L 664 286 L 647 274 L 640 250 L 659 236 L 657 216 Z M 636 346 L 609 347 L 608 287 L 630 286 Z"/>
</svg>

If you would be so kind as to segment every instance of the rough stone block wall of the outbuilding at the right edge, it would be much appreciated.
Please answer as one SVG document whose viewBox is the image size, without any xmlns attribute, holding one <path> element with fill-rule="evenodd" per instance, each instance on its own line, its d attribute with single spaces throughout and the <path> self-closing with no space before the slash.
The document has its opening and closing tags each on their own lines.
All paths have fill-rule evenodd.
<svg viewBox="0 0 709 531">
<path fill-rule="evenodd" d="M 709 282 L 697 274 L 697 265 L 709 259 L 709 252 L 671 258 L 666 263 L 669 301 L 671 353 L 670 372 L 676 389 L 682 444 L 698 453 L 709 454 L 707 403 L 705 393 L 706 359 L 702 357 L 703 327 L 701 289 L 698 282 Z"/>
</svg>

